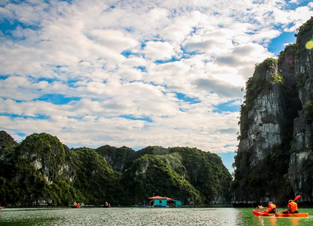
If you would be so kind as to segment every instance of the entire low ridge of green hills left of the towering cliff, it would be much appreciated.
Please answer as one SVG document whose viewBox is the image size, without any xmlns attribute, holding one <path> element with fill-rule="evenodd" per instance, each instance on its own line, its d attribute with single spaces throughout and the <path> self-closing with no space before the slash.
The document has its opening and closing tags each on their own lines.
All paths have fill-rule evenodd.
<svg viewBox="0 0 313 226">
<path fill-rule="evenodd" d="M 230 173 L 197 148 L 70 149 L 47 133 L 17 143 L 0 131 L 0 157 L 2 205 L 140 205 L 153 193 L 186 205 L 230 202 Z"/>
</svg>

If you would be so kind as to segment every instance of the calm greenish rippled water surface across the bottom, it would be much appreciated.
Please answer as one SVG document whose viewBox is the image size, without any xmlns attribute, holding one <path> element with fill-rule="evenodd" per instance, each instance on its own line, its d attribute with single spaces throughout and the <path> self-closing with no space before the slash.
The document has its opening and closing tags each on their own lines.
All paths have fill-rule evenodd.
<svg viewBox="0 0 313 226">
<path fill-rule="evenodd" d="M 251 208 L 3 209 L 0 226 L 313 226 L 306 219 L 255 217 Z M 313 209 L 300 209 L 313 216 Z"/>
</svg>

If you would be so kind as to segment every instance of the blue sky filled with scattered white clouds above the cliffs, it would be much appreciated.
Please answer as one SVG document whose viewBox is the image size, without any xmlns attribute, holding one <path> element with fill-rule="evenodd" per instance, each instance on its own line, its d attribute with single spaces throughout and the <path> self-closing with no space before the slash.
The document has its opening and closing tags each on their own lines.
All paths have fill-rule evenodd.
<svg viewBox="0 0 313 226">
<path fill-rule="evenodd" d="M 231 171 L 241 88 L 312 15 L 308 0 L 0 0 L 0 130 L 197 147 Z"/>
</svg>

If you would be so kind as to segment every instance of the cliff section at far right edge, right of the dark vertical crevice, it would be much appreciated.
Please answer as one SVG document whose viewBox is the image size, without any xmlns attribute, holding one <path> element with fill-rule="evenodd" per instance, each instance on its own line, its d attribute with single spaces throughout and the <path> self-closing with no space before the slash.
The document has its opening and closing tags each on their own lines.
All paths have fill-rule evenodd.
<svg viewBox="0 0 313 226">
<path fill-rule="evenodd" d="M 313 39 L 313 18 L 300 28 L 297 37 L 298 57 L 294 65 L 303 109 L 294 121 L 289 177 L 294 193 L 302 194 L 302 201 L 312 204 L 313 122 L 309 104 L 313 101 L 313 49 L 305 47 L 310 39 Z"/>
</svg>

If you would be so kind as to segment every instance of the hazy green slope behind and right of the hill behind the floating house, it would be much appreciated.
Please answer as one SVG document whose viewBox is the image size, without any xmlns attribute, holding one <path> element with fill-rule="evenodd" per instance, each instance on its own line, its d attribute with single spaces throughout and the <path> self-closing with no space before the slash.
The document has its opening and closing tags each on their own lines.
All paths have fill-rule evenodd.
<svg viewBox="0 0 313 226">
<path fill-rule="evenodd" d="M 230 200 L 232 177 L 216 154 L 203 152 L 197 148 L 159 146 L 149 146 L 136 154 L 164 156 L 165 161 L 176 172 L 201 192 L 204 203 L 212 203 L 216 197 L 223 197 L 225 202 Z"/>
</svg>

